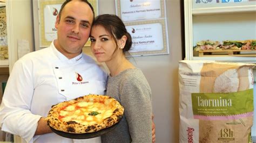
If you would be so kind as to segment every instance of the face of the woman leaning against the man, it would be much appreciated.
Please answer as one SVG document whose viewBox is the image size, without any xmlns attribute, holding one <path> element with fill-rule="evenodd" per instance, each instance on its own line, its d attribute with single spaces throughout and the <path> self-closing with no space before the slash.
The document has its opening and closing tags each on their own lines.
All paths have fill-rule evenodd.
<svg viewBox="0 0 256 143">
<path fill-rule="evenodd" d="M 90 39 L 91 51 L 98 62 L 107 62 L 112 60 L 113 54 L 117 48 L 116 42 L 114 42 L 111 34 L 107 32 L 103 26 L 93 26 Z M 118 51 L 119 49 L 117 49 L 117 52 Z"/>
</svg>

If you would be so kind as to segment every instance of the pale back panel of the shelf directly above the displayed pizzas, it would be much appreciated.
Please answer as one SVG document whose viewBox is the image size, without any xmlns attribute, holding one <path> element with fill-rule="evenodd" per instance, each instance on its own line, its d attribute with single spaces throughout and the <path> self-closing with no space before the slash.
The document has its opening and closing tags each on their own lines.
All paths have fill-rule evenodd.
<svg viewBox="0 0 256 143">
<path fill-rule="evenodd" d="M 254 39 L 256 38 L 256 18 L 252 17 L 255 16 L 255 12 L 193 16 L 193 46 L 198 41 L 207 39 L 221 43 L 223 40 Z"/>
</svg>

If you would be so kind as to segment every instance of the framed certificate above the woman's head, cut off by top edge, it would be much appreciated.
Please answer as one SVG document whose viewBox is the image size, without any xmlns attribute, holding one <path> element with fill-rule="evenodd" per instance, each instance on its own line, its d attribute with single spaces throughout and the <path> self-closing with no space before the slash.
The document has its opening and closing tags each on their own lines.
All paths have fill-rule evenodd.
<svg viewBox="0 0 256 143">
<path fill-rule="evenodd" d="M 116 0 L 116 13 L 123 22 L 165 17 L 164 0 Z"/>
</svg>

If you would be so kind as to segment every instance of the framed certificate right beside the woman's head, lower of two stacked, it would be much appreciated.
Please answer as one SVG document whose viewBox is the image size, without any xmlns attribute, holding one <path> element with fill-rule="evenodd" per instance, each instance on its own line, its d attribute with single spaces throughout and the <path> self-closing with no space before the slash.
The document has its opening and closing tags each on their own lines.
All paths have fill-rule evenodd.
<svg viewBox="0 0 256 143">
<path fill-rule="evenodd" d="M 169 54 L 165 19 L 125 23 L 132 37 L 132 56 Z"/>
</svg>

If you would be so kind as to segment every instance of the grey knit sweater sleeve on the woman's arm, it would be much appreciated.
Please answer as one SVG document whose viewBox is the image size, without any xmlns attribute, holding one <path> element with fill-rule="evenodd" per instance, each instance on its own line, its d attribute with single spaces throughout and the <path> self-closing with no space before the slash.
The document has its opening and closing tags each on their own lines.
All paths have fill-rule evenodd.
<svg viewBox="0 0 256 143">
<path fill-rule="evenodd" d="M 151 89 L 144 78 L 129 77 L 120 88 L 120 101 L 132 142 L 152 142 Z"/>
</svg>

